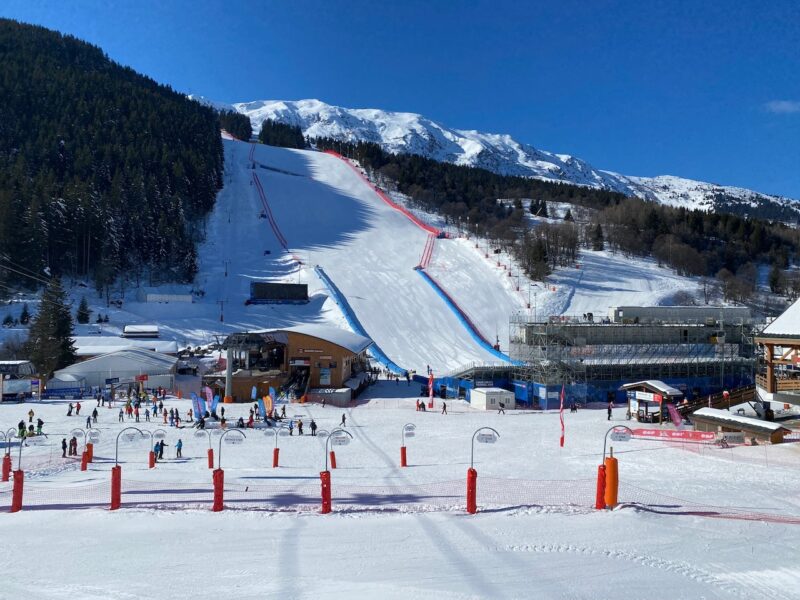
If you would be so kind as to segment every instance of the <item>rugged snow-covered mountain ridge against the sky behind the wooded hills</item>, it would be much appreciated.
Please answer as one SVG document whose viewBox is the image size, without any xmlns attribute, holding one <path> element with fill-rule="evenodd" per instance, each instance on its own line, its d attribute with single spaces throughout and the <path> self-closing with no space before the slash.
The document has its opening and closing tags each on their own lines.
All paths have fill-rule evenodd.
<svg viewBox="0 0 800 600">
<path fill-rule="evenodd" d="M 203 98 L 201 102 L 222 105 Z M 254 131 L 266 119 L 299 126 L 306 136 L 368 141 L 394 153 L 488 169 L 502 175 L 573 183 L 655 200 L 670 206 L 716 210 L 786 222 L 800 220 L 791 198 L 674 176 L 632 177 L 598 169 L 569 154 L 539 150 L 510 135 L 452 129 L 415 113 L 349 109 L 319 100 L 262 100 L 225 105 L 247 115 Z"/>
</svg>

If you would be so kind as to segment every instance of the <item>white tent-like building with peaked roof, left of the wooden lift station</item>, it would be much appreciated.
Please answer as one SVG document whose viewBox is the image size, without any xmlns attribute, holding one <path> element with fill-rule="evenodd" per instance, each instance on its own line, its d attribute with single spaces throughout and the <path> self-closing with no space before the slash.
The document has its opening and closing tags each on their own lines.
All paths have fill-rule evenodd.
<svg viewBox="0 0 800 600">
<path fill-rule="evenodd" d="M 53 373 L 56 387 L 64 381 L 82 381 L 84 389 L 106 385 L 128 386 L 143 383 L 146 388 L 173 389 L 178 358 L 160 352 L 128 348 L 75 363 Z M 65 376 L 71 377 L 65 377 Z M 48 382 L 49 386 L 49 382 Z"/>
</svg>

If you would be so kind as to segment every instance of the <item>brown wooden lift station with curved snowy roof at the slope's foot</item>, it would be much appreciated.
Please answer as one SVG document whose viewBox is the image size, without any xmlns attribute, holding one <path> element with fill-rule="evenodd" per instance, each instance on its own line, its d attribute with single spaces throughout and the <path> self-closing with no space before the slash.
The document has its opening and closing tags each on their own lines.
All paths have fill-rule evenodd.
<svg viewBox="0 0 800 600">
<path fill-rule="evenodd" d="M 269 331 L 229 335 L 223 347 L 232 361 L 232 395 L 250 400 L 270 388 L 302 397 L 313 390 L 350 390 L 361 387 L 360 374 L 368 368 L 367 349 L 372 340 L 325 325 L 298 325 Z M 225 391 L 224 371 L 203 377 L 220 396 Z"/>
</svg>

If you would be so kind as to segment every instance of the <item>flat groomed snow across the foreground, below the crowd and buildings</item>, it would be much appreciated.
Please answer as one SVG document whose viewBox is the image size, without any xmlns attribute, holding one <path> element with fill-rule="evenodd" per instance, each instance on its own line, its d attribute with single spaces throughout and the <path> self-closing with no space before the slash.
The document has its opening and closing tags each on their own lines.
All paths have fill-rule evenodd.
<svg viewBox="0 0 800 600">
<path fill-rule="evenodd" d="M 332 471 L 333 508 L 298 508 L 293 497 L 318 497 L 324 466 L 322 438 L 281 437 L 281 467 L 270 468 L 273 437 L 247 430 L 238 446 L 223 445 L 226 487 L 274 486 L 282 508 L 229 505 L 210 511 L 211 474 L 207 441 L 190 430 L 167 431 L 165 461 L 148 470 L 146 441 L 121 442 L 123 508 L 77 506 L 94 496 L 80 490 L 107 484 L 114 439 L 124 425 L 117 408 L 100 408 L 101 439 L 86 472 L 62 459 L 60 432 L 83 425 L 66 417 L 64 402 L 0 405 L 6 424 L 29 408 L 46 422 L 53 446 L 23 450 L 26 494 L 49 497 L 58 508 L 23 509 L 0 519 L 11 544 L 0 557 L 4 597 L 138 600 L 235 595 L 242 598 L 798 598 L 800 482 L 795 444 L 719 449 L 686 443 L 634 439 L 613 443 L 619 459 L 620 501 L 646 490 L 653 500 L 615 511 L 595 511 L 593 478 L 609 425 L 628 424 L 624 408 L 609 423 L 605 411 L 565 414 L 566 445 L 559 448 L 559 417 L 552 413 L 475 411 L 448 402 L 448 415 L 414 411 L 416 386 L 381 381 L 355 408 L 290 405 L 287 415 L 310 418 L 332 429 L 342 412 L 354 441 L 337 448 Z M 437 408 L 440 406 L 437 400 Z M 167 408 L 188 410 L 168 398 Z M 249 405 L 226 405 L 231 420 Z M 417 426 L 406 442 L 409 468 L 398 467 L 400 431 Z M 146 431 L 163 424 L 139 423 Z M 475 448 L 479 513 L 464 513 L 463 487 L 469 440 L 480 426 L 498 430 L 495 444 Z M 671 429 L 671 426 L 667 428 Z M 177 439 L 184 458 L 175 459 Z M 214 438 L 216 440 L 216 438 Z M 217 443 L 214 442 L 215 452 Z M 13 453 L 15 467 L 17 453 Z M 422 499 L 413 506 L 404 494 L 437 483 L 459 490 L 452 506 Z M 509 485 L 503 486 L 502 482 Z M 573 482 L 576 490 L 551 505 L 509 506 L 502 494 L 516 487 L 543 490 Z M 163 503 L 125 507 L 149 485 L 156 496 L 169 490 L 199 490 L 203 503 L 185 509 Z M 0 493 L 8 489 L 0 484 Z M 625 486 L 629 487 L 626 488 Z M 127 486 L 127 487 L 126 487 Z M 390 503 L 376 502 L 373 488 L 397 490 Z M 632 487 L 630 487 L 632 486 Z M 103 488 L 107 491 L 107 487 Z M 449 488 L 448 488 L 449 489 Z M 76 491 L 71 491 L 76 490 Z M 498 490 L 501 490 L 498 492 Z M 627 491 L 626 491 L 627 490 Z M 356 494 L 345 504 L 343 494 Z M 500 499 L 493 499 L 499 493 Z M 49 496 L 48 496 L 49 494 Z M 226 492 L 228 497 L 229 492 Z M 178 493 L 178 496 L 181 494 Z M 588 498 L 587 498 L 588 496 Z M 3 496 L 7 499 L 7 495 Z M 70 503 L 75 503 L 71 508 Z M 570 505 L 572 503 L 572 505 Z M 719 507 L 761 520 L 708 518 Z M 685 513 L 685 514 L 684 514 Z M 796 520 L 796 519 L 795 519 Z"/>
</svg>

